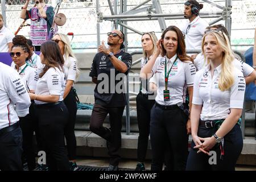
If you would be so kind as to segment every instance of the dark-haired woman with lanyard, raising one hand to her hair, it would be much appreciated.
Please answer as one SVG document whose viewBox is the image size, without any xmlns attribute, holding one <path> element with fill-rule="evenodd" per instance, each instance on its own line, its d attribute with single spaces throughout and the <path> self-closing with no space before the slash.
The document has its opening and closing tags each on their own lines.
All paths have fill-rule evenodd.
<svg viewBox="0 0 256 182">
<path fill-rule="evenodd" d="M 185 42 L 179 28 L 166 28 L 156 46 L 157 51 L 141 69 L 142 78 L 155 75 L 158 85 L 150 118 L 151 170 L 162 170 L 168 143 L 171 146 L 172 168 L 184 170 L 188 154 L 188 134 L 191 132 L 189 113 L 184 107 L 185 97 L 188 88 L 190 104 L 196 68 L 191 57 L 185 53 Z"/>
</svg>

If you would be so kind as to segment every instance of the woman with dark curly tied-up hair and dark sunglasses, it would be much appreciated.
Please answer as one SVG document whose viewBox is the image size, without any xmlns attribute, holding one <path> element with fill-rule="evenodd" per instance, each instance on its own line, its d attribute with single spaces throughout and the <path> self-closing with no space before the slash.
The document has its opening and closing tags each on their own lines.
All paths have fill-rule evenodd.
<svg viewBox="0 0 256 182">
<path fill-rule="evenodd" d="M 31 51 L 27 44 L 27 39 L 22 35 L 16 35 L 13 38 L 13 47 L 10 52 L 13 60 L 13 68 L 19 73 L 28 92 L 35 92 L 36 82 L 38 81 L 38 73 L 36 69 L 30 67 L 26 60 L 30 59 Z M 23 156 L 27 160 L 28 169 L 35 169 L 35 155 L 33 148 L 33 135 L 35 130 L 34 104 L 31 102 L 29 114 L 20 117 L 19 123 L 23 135 Z"/>
</svg>

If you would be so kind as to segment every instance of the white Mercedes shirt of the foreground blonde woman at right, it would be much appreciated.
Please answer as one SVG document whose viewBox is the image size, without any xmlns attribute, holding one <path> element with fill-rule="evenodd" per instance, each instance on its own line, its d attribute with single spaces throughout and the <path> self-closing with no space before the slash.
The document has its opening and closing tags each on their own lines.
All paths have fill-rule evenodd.
<svg viewBox="0 0 256 182">
<path fill-rule="evenodd" d="M 200 115 L 203 121 L 225 119 L 231 108 L 243 108 L 246 85 L 242 72 L 234 68 L 234 84 L 224 92 L 218 88 L 220 73 L 221 65 L 214 69 L 212 77 L 210 64 L 196 73 L 192 104 L 203 105 Z"/>
</svg>

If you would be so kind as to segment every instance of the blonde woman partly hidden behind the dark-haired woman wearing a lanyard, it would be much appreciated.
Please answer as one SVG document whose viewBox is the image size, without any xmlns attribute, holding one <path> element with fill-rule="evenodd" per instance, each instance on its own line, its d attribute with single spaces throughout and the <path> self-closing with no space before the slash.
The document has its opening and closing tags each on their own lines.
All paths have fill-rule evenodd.
<svg viewBox="0 0 256 182">
<path fill-rule="evenodd" d="M 143 49 L 143 57 L 141 59 L 141 67 L 143 68 L 150 57 L 156 51 L 156 38 L 153 32 L 146 32 L 142 35 L 141 44 Z M 139 94 L 136 98 L 137 105 L 137 119 L 139 127 L 138 149 L 137 149 L 137 166 L 136 171 L 144 171 L 144 160 L 146 158 L 148 136 L 150 134 L 150 110 L 155 104 L 155 99 L 150 98 L 154 95 L 154 92 L 150 92 L 148 89 L 148 80 L 141 81 Z"/>
</svg>

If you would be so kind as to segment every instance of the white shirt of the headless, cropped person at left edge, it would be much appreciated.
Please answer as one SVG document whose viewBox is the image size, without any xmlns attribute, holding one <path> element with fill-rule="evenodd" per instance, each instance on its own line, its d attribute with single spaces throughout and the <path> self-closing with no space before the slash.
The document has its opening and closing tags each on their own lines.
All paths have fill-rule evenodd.
<svg viewBox="0 0 256 182">
<path fill-rule="evenodd" d="M 30 96 L 18 72 L 0 63 L 0 129 L 26 116 L 30 104 Z"/>
</svg>

